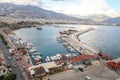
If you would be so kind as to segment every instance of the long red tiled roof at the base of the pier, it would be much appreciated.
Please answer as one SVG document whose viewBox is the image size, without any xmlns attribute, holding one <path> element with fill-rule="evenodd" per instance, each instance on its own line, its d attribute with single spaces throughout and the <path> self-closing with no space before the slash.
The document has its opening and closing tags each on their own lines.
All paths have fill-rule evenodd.
<svg viewBox="0 0 120 80">
<path fill-rule="evenodd" d="M 98 55 L 80 55 L 80 56 L 77 56 L 77 57 L 73 57 L 71 59 L 71 62 L 79 62 L 81 60 L 84 60 L 84 59 L 90 59 L 90 58 L 98 58 Z"/>
</svg>

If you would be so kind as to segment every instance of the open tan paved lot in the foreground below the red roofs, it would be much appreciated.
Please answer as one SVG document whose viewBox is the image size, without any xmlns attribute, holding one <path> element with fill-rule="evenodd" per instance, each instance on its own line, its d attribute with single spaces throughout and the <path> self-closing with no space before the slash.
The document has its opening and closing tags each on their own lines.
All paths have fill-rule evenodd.
<svg viewBox="0 0 120 80">
<path fill-rule="evenodd" d="M 102 63 L 88 66 L 84 72 L 68 70 L 54 75 L 48 75 L 44 80 L 85 80 L 89 76 L 92 80 L 116 80 L 120 76 L 105 67 Z"/>
</svg>

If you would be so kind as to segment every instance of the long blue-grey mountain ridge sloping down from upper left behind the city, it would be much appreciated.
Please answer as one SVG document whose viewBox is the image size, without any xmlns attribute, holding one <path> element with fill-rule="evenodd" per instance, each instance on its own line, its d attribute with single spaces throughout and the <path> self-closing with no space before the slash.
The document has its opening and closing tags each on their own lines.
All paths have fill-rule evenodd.
<svg viewBox="0 0 120 80">
<path fill-rule="evenodd" d="M 31 5 L 15 5 L 12 3 L 0 3 L 0 16 L 15 18 L 42 18 L 57 20 L 76 20 L 65 14 L 56 13 L 50 10 Z"/>
</svg>

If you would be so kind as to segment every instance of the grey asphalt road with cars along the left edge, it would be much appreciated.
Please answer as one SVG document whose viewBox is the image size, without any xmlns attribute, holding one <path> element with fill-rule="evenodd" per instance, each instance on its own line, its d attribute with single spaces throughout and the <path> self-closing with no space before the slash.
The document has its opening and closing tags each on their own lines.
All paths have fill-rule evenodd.
<svg viewBox="0 0 120 80">
<path fill-rule="evenodd" d="M 11 56 L 8 49 L 6 49 L 6 46 L 1 42 L 0 40 L 0 48 L 3 52 L 3 56 L 6 62 L 6 65 L 10 64 L 13 65 L 16 63 L 15 60 L 15 55 Z M 11 56 L 11 59 L 8 59 L 8 56 Z M 17 67 L 11 67 L 12 68 L 12 72 L 17 74 L 17 80 L 25 80 L 25 77 L 23 75 L 23 71 L 20 69 L 20 67 L 17 65 Z"/>
</svg>

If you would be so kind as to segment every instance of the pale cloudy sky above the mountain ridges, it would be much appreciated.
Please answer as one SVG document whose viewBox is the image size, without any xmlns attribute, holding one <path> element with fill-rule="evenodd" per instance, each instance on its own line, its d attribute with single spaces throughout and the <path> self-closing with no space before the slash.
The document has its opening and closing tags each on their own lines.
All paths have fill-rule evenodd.
<svg viewBox="0 0 120 80">
<path fill-rule="evenodd" d="M 120 15 L 120 0 L 0 0 L 0 3 L 35 5 L 71 16 Z"/>
</svg>

